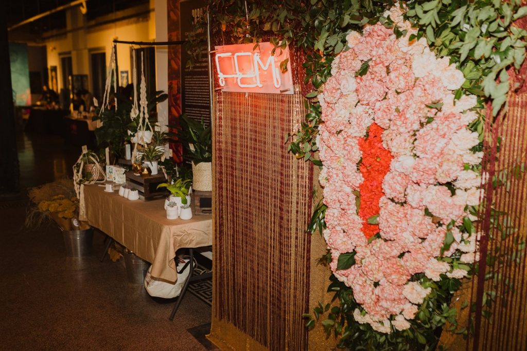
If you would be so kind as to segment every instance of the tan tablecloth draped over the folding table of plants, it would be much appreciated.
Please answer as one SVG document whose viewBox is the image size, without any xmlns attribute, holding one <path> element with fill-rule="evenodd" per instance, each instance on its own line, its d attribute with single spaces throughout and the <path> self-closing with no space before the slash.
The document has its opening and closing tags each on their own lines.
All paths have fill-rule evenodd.
<svg viewBox="0 0 527 351">
<path fill-rule="evenodd" d="M 106 193 L 104 187 L 85 185 L 84 202 L 87 222 L 150 262 L 154 278 L 175 282 L 175 251 L 212 245 L 211 216 L 167 219 L 163 199 L 130 201 L 117 191 Z"/>
</svg>

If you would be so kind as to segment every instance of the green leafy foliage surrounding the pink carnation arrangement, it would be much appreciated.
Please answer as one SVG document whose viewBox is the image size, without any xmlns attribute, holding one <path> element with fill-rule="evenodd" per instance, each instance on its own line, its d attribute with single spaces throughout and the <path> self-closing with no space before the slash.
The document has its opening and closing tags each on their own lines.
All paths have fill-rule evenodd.
<svg viewBox="0 0 527 351">
<path fill-rule="evenodd" d="M 372 0 L 225 0 L 210 1 L 209 9 L 212 35 L 225 44 L 253 43 L 256 46 L 265 39 L 277 48 L 291 45 L 305 52 L 306 61 L 302 65 L 305 79 L 314 89 L 306 94 L 308 113 L 305 122 L 298 131 L 286 136 L 286 142 L 288 151 L 298 159 L 320 166 L 321 162 L 316 159 L 316 137 L 322 113 L 319 93 L 332 76 L 332 64 L 338 54 L 349 49 L 347 35 L 351 31 L 361 32 L 367 24 L 380 22 L 392 29 L 397 38 L 406 36 L 407 31 L 394 25 L 393 18 L 383 16 L 393 5 L 393 1 Z M 481 151 L 485 123 L 481 111 L 490 104 L 493 117 L 506 113 L 507 96 L 511 90 L 518 88 L 510 86 L 508 71 L 518 70 L 524 61 L 527 32 L 513 26 L 513 22 L 527 15 L 527 7 L 522 7 L 519 0 L 415 0 L 401 2 L 397 6 L 401 7 L 404 19 L 417 29 L 409 36 L 409 40 L 424 38 L 435 56 L 450 57 L 450 64 L 463 73 L 465 81 L 454 92 L 455 99 L 469 94 L 477 97 L 472 109 L 477 118 L 469 125 L 469 130 L 479 135 L 480 144 L 473 151 Z M 199 37 L 191 38 L 189 47 L 197 47 L 195 41 L 198 40 Z M 366 75 L 368 68 L 368 62 L 365 62 L 356 76 Z M 427 107 L 441 110 L 440 104 Z M 469 168 L 481 173 L 480 165 Z M 499 186 L 499 182 L 493 180 Z M 327 206 L 322 202 L 316 206 L 309 224 L 311 232 L 322 232 L 326 228 L 326 210 Z M 477 215 L 477 210 L 471 208 L 470 214 Z M 493 214 L 495 218 L 504 215 L 499 212 Z M 465 218 L 461 229 L 471 233 L 472 221 L 469 217 Z M 376 218 L 372 222 L 368 219 L 368 224 L 376 224 L 375 221 Z M 513 232 L 510 227 L 500 230 L 505 236 Z M 446 246 L 452 243 L 450 239 L 447 235 Z M 353 255 L 341 256 L 345 256 L 338 260 L 341 267 L 355 264 Z M 503 257 L 499 254 L 490 255 L 491 261 L 500 259 Z M 329 264 L 331 255 L 328 253 L 323 261 Z M 469 271 L 470 274 L 474 273 L 473 269 Z M 314 309 L 314 316 L 305 315 L 307 326 L 313 327 L 316 320 L 327 315 L 321 324 L 328 336 L 333 334 L 338 338 L 339 347 L 367 350 L 442 349 L 437 345 L 447 323 L 450 323 L 449 330 L 452 332 L 469 333 L 465 328 L 457 328 L 457 311 L 449 307 L 453 293 L 461 285 L 460 280 L 442 278 L 437 282 L 424 274 L 415 275 L 412 280 L 430 287 L 432 293 L 426 296 L 411 327 L 405 330 L 379 333 L 368 324 L 357 323 L 356 319 L 360 317 L 354 317 L 353 314 L 356 310 L 362 310 L 362 307 L 356 302 L 353 290 L 335 275 L 331 276 L 328 290 L 335 292 L 339 304 L 333 307 L 319 304 Z M 485 293 L 484 307 L 490 307 L 494 298 L 492 292 Z"/>
</svg>

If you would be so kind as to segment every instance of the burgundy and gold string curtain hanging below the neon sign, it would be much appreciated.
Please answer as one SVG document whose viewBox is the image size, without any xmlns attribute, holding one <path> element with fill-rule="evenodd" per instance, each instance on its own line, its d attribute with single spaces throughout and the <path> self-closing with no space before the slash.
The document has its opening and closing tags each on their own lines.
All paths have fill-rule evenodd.
<svg viewBox="0 0 527 351">
<path fill-rule="evenodd" d="M 284 135 L 305 110 L 294 95 L 218 93 L 213 129 L 211 334 L 229 349 L 305 349 L 312 166 Z"/>
</svg>

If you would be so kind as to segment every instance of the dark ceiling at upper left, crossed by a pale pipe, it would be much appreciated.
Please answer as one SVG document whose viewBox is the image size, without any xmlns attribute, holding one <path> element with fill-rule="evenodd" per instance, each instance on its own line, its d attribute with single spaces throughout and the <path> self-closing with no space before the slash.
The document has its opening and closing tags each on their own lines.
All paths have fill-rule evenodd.
<svg viewBox="0 0 527 351">
<path fill-rule="evenodd" d="M 73 0 L 14 0 L 4 3 L 7 11 L 7 25 L 13 26 L 46 11 L 51 11 L 59 6 L 66 5 Z M 136 5 L 148 3 L 148 0 L 86 0 L 87 20 L 90 21 L 100 16 L 110 14 L 115 11 L 130 8 Z M 30 33 L 38 34 L 53 29 L 66 28 L 66 15 L 64 11 L 56 12 L 52 15 L 27 24 L 26 30 Z"/>
</svg>

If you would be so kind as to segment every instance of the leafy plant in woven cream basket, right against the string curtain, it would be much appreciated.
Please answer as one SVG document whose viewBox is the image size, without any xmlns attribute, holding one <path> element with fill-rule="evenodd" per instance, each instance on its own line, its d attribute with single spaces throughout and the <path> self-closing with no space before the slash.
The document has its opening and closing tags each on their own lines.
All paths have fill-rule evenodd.
<svg viewBox="0 0 527 351">
<path fill-rule="evenodd" d="M 185 149 L 184 157 L 192 162 L 192 188 L 212 190 L 211 128 L 187 115 L 181 115 L 178 138 Z"/>
</svg>

